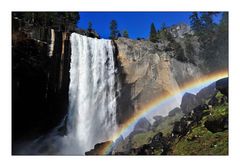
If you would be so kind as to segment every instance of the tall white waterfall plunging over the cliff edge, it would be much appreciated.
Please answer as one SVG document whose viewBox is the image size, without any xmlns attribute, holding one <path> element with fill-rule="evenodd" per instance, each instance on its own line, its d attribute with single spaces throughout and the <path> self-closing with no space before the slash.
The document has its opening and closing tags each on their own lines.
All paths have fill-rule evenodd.
<svg viewBox="0 0 240 167">
<path fill-rule="evenodd" d="M 72 33 L 69 113 L 63 153 L 84 154 L 117 129 L 117 79 L 110 40 Z"/>
</svg>

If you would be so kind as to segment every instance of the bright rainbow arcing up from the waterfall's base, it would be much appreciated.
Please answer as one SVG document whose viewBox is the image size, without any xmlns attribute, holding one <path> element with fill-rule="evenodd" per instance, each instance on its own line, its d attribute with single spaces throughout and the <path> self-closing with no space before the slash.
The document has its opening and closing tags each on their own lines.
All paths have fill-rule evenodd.
<svg viewBox="0 0 240 167">
<path fill-rule="evenodd" d="M 208 75 L 203 75 L 200 78 L 191 80 L 183 84 L 178 91 L 171 92 L 171 93 L 164 93 L 161 94 L 158 98 L 155 98 L 144 107 L 142 107 L 139 111 L 136 112 L 131 118 L 129 118 L 125 123 L 121 125 L 118 131 L 110 138 L 112 141 L 117 139 L 121 134 L 126 132 L 129 127 L 134 125 L 143 115 L 149 114 L 151 112 L 156 111 L 156 108 L 161 105 L 162 103 L 166 102 L 167 100 L 171 99 L 179 95 L 180 93 L 187 92 L 196 87 L 204 86 L 215 82 L 221 78 L 228 77 L 228 69 L 220 70 L 217 72 L 210 73 Z M 112 144 L 105 145 L 100 151 L 100 155 L 107 155 L 111 149 Z"/>
</svg>

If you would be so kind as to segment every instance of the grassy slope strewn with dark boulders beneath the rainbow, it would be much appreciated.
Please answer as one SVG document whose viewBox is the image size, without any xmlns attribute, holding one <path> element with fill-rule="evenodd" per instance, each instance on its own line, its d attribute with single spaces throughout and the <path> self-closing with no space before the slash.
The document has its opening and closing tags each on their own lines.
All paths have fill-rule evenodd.
<svg viewBox="0 0 240 167">
<path fill-rule="evenodd" d="M 112 154 L 226 155 L 228 152 L 228 102 L 226 96 L 215 90 L 215 86 L 212 87 L 212 85 L 198 92 L 200 95 L 203 92 L 210 92 L 204 96 L 207 98 L 203 98 L 204 103 L 195 106 L 184 115 L 181 115 L 180 108 L 175 108 L 166 117 L 155 116 L 155 122 L 149 131 L 131 133 L 113 149 Z M 214 93 L 212 89 L 215 90 Z M 214 104 L 211 99 L 216 99 Z M 191 101 L 188 103 L 190 105 Z M 181 117 L 173 119 L 179 113 Z M 166 126 L 167 122 L 172 125 L 170 128 Z"/>
</svg>

